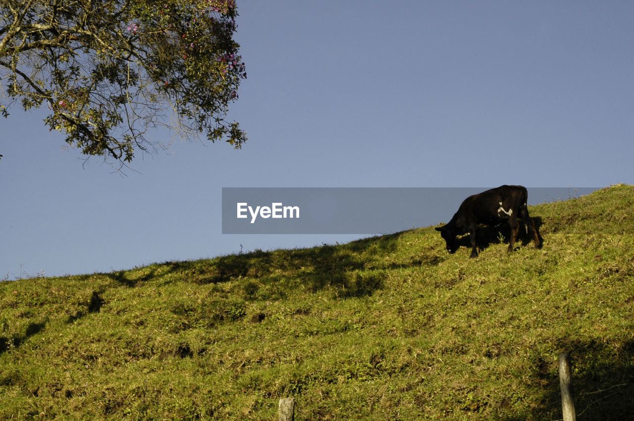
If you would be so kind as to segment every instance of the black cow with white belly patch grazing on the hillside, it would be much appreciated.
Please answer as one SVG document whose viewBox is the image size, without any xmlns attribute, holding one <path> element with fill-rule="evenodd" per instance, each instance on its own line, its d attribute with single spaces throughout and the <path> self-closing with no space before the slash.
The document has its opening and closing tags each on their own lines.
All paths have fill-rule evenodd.
<svg viewBox="0 0 634 421">
<path fill-rule="evenodd" d="M 447 242 L 449 253 L 455 253 L 458 249 L 456 236 L 469 232 L 471 239 L 471 257 L 477 257 L 475 248 L 475 227 L 479 223 L 485 225 L 499 225 L 508 221 L 511 227 L 511 236 L 508 242 L 508 251 L 513 251 L 515 239 L 519 232 L 520 218 L 526 225 L 527 232 L 535 242 L 535 248 L 540 248 L 540 239 L 535 229 L 535 224 L 528 215 L 526 201 L 528 192 L 523 185 L 500 185 L 495 189 L 483 191 L 466 198 L 450 222 L 443 227 L 436 227 L 440 231 L 444 241 Z"/>
</svg>

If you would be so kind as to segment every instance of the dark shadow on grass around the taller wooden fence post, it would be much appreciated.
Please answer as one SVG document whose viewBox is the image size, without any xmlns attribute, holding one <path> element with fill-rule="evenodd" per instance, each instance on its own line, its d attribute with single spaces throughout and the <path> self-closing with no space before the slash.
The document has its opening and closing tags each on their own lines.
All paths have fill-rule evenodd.
<svg viewBox="0 0 634 421">
<path fill-rule="evenodd" d="M 618 344 L 605 344 L 600 338 L 563 340 L 560 349 L 571 353 L 574 406 L 579 421 L 631 419 L 634 414 L 631 398 L 634 394 L 634 340 Z M 562 418 L 557 370 L 537 367 L 534 382 L 545 388 L 543 406 L 534 410 L 534 418 Z"/>
</svg>

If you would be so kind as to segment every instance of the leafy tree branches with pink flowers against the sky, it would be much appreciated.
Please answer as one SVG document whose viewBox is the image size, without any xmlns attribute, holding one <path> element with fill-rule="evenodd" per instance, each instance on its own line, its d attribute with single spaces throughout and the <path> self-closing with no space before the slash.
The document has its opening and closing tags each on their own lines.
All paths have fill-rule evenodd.
<svg viewBox="0 0 634 421">
<path fill-rule="evenodd" d="M 236 16 L 235 0 L 0 0 L 0 113 L 48 106 L 49 130 L 121 163 L 159 125 L 240 148 Z"/>
</svg>

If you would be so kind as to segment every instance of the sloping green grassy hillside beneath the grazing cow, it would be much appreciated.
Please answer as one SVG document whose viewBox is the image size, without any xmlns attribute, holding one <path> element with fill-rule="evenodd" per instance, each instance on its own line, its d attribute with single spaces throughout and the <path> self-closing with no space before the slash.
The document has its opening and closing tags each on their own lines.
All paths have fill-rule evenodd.
<svg viewBox="0 0 634 421">
<path fill-rule="evenodd" d="M 0 282 L 0 418 L 558 419 L 568 351 L 578 419 L 624 419 L 634 187 L 529 210 L 542 249 L 477 259 L 428 227 Z"/>
</svg>

